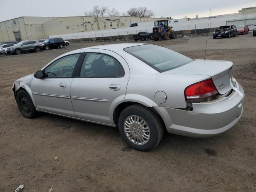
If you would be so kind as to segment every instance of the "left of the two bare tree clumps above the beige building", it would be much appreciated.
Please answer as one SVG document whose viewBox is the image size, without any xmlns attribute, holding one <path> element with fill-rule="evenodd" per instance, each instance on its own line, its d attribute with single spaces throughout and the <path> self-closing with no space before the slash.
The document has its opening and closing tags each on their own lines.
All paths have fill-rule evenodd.
<svg viewBox="0 0 256 192">
<path fill-rule="evenodd" d="M 93 6 L 91 11 L 86 11 L 84 12 L 85 16 L 91 16 L 91 17 L 112 17 L 112 16 L 118 16 L 119 12 L 115 9 L 112 8 L 110 9 L 109 6 Z"/>
</svg>

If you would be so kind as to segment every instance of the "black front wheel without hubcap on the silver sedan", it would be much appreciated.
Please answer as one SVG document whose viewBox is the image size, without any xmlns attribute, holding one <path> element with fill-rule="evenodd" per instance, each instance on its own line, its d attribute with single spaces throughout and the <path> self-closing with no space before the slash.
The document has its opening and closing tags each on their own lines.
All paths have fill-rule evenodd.
<svg viewBox="0 0 256 192">
<path fill-rule="evenodd" d="M 30 98 L 28 92 L 25 90 L 20 90 L 16 96 L 16 102 L 21 114 L 29 119 L 32 119 L 36 116 L 36 108 Z"/>
</svg>

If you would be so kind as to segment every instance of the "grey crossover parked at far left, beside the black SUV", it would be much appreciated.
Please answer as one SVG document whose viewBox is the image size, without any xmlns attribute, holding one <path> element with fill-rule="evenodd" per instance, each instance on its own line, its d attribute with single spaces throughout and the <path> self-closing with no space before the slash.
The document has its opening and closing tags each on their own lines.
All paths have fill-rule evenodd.
<svg viewBox="0 0 256 192">
<path fill-rule="evenodd" d="M 7 53 L 11 54 L 21 54 L 23 52 L 40 52 L 42 46 L 36 40 L 21 41 L 15 44 L 14 46 L 8 48 Z"/>
</svg>

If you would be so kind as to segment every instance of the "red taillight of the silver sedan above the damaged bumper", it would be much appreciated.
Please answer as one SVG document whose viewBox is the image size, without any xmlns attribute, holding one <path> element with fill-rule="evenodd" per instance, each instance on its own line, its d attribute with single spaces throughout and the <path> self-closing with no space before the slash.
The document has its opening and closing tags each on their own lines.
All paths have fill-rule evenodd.
<svg viewBox="0 0 256 192">
<path fill-rule="evenodd" d="M 212 79 L 192 84 L 185 89 L 186 100 L 208 98 L 216 94 L 218 94 L 218 91 Z"/>
</svg>

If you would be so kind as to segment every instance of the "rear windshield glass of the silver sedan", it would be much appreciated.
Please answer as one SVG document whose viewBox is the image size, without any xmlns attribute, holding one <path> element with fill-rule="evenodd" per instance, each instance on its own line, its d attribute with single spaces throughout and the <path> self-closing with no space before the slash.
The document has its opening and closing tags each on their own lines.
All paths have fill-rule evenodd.
<svg viewBox="0 0 256 192">
<path fill-rule="evenodd" d="M 168 48 L 157 45 L 139 45 L 125 48 L 124 51 L 142 60 L 158 72 L 168 71 L 193 60 Z"/>
</svg>

